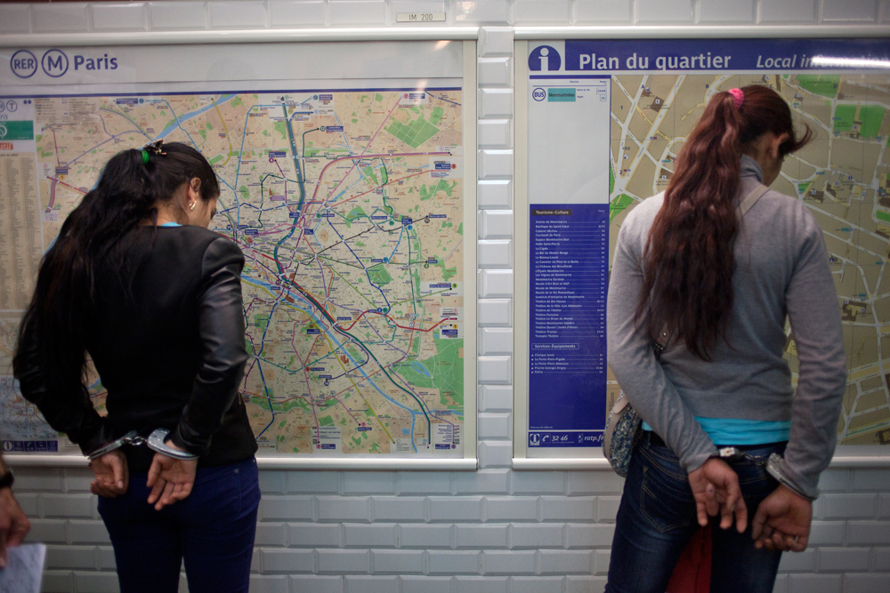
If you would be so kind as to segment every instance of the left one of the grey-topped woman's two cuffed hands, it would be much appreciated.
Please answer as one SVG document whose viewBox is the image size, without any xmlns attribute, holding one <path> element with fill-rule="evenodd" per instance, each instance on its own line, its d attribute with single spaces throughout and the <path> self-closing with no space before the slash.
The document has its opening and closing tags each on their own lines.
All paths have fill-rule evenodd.
<svg viewBox="0 0 890 593">
<path fill-rule="evenodd" d="M 739 476 L 725 461 L 712 457 L 689 473 L 689 485 L 695 498 L 699 525 L 708 525 L 708 516 L 720 515 L 720 528 L 729 529 L 735 517 L 735 528 L 744 533 L 748 526 L 748 507 L 741 496 Z"/>
</svg>

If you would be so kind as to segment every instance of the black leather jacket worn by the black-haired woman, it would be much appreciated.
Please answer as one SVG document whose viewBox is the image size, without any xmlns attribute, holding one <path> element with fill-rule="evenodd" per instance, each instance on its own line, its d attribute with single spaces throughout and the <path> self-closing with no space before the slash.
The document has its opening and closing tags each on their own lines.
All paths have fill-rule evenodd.
<svg viewBox="0 0 890 593">
<path fill-rule="evenodd" d="M 87 349 L 108 390 L 102 418 L 83 386 L 50 393 L 39 368 L 36 328 L 23 336 L 18 379 L 53 429 L 90 453 L 137 430 L 171 431 L 199 465 L 249 459 L 256 451 L 238 395 L 247 362 L 238 245 L 206 228 L 141 227 L 125 253 L 132 285 L 118 269 L 100 270 Z M 46 369 L 51 372 L 51 369 Z M 131 469 L 147 469 L 147 447 L 127 448 Z"/>
</svg>

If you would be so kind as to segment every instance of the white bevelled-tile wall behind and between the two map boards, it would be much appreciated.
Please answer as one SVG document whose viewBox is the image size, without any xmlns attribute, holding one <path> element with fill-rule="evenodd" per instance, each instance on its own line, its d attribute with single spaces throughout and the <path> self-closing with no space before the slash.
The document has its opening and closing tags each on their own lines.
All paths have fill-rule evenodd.
<svg viewBox="0 0 890 593">
<path fill-rule="evenodd" d="M 797 25 L 890 20 L 887 0 L 192 0 L 0 4 L 12 33 L 381 27 L 400 12 L 481 26 L 477 472 L 263 471 L 252 591 L 580 593 L 603 590 L 622 480 L 514 472 L 513 41 L 527 25 Z M 468 389 L 473 389 L 469 387 Z M 49 546 L 46 591 L 117 591 L 108 534 L 81 469 L 17 471 Z M 776 591 L 890 591 L 890 470 L 831 469 L 811 548 Z M 184 587 L 182 590 L 185 590 Z"/>
</svg>

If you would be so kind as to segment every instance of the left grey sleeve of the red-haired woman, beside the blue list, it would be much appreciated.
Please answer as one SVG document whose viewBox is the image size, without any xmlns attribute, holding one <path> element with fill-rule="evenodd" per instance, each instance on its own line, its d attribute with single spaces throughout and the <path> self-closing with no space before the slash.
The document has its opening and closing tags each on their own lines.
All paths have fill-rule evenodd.
<svg viewBox="0 0 890 593">
<path fill-rule="evenodd" d="M 627 401 L 690 472 L 708 461 L 716 447 L 674 385 L 667 381 L 652 350 L 651 337 L 644 328 L 637 327 L 635 312 L 643 290 L 641 242 L 645 233 L 634 228 L 631 216 L 619 231 L 609 278 L 609 366 Z"/>
</svg>

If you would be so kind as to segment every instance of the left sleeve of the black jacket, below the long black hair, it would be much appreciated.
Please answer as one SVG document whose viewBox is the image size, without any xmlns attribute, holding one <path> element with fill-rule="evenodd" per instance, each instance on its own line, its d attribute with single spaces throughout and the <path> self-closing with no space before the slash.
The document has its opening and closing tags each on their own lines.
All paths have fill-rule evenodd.
<svg viewBox="0 0 890 593">
<path fill-rule="evenodd" d="M 54 430 L 64 433 L 88 455 L 111 440 L 105 419 L 93 408 L 82 384 L 72 384 L 64 392 L 49 389 L 40 366 L 40 336 L 36 321 L 24 320 L 25 330 L 19 344 L 20 356 L 15 369 L 21 395 L 37 406 Z M 47 371 L 50 372 L 50 371 Z"/>
</svg>

